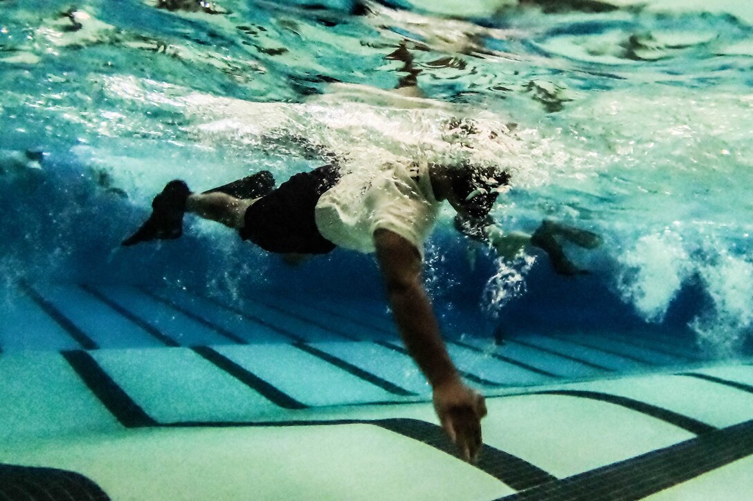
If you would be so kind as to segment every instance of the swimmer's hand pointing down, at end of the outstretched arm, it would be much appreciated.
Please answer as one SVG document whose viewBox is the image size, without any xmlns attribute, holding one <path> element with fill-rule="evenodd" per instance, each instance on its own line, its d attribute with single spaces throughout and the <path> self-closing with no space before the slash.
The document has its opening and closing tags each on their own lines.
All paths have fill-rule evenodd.
<svg viewBox="0 0 753 501">
<path fill-rule="evenodd" d="M 450 439 L 460 448 L 462 458 L 473 463 L 481 450 L 481 418 L 486 403 L 477 391 L 459 381 L 434 388 L 434 410 Z"/>
</svg>

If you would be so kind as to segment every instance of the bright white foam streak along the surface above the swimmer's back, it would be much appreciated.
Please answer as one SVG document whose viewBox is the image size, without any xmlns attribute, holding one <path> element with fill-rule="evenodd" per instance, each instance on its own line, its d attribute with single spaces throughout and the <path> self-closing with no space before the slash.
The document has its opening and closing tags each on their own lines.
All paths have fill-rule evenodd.
<svg viewBox="0 0 753 501">
<path fill-rule="evenodd" d="M 507 169 L 519 186 L 542 184 L 553 163 L 567 161 L 556 153 L 562 151 L 556 141 L 541 139 L 533 128 L 511 131 L 506 116 L 419 98 L 410 99 L 416 108 L 384 107 L 389 93 L 367 92 L 365 86 L 301 104 L 248 102 L 130 76 L 106 76 L 102 83 L 114 98 L 182 114 L 186 124 L 174 132 L 176 140 L 221 147 L 237 157 L 274 155 L 289 164 L 291 157 L 322 150 L 360 168 L 396 158 L 469 161 Z M 473 132 L 448 129 L 453 120 L 472 124 Z"/>
</svg>

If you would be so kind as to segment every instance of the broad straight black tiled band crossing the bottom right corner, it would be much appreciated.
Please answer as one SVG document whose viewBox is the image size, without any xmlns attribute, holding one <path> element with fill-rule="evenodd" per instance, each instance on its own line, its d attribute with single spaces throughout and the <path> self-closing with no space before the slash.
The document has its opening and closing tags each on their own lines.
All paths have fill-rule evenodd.
<svg viewBox="0 0 753 501">
<path fill-rule="evenodd" d="M 751 454 L 753 421 L 746 421 L 500 499 L 643 499 Z"/>
</svg>

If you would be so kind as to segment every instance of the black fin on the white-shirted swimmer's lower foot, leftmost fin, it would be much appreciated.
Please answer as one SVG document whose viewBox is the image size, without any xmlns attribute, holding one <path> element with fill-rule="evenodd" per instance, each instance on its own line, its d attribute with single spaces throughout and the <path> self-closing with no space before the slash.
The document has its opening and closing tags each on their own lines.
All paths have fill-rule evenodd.
<svg viewBox="0 0 753 501">
<path fill-rule="evenodd" d="M 128 247 L 142 241 L 179 238 L 183 234 L 183 214 L 190 194 L 191 190 L 183 181 L 170 181 L 152 200 L 149 219 L 121 245 Z"/>
</svg>

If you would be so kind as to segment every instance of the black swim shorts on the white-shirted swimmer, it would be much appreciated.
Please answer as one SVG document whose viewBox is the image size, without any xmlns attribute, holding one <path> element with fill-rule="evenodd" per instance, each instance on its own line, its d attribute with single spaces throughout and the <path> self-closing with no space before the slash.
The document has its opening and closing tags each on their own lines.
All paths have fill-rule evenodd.
<svg viewBox="0 0 753 501">
<path fill-rule="evenodd" d="M 241 238 L 270 252 L 327 254 L 335 244 L 319 233 L 314 210 L 322 193 L 339 180 L 334 165 L 292 176 L 245 211 Z"/>
</svg>

